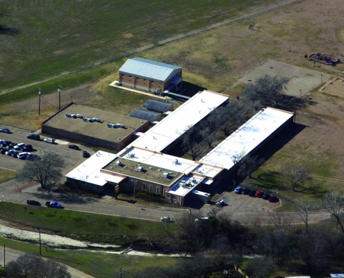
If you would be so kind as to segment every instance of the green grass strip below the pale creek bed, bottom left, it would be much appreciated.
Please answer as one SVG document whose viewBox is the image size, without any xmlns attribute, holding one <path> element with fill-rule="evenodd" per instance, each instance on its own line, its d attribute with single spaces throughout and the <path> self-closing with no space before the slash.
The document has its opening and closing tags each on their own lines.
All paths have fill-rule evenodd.
<svg viewBox="0 0 344 278">
<path fill-rule="evenodd" d="M 37 245 L 19 243 L 5 238 L 0 238 L 0 244 L 22 252 L 39 254 L 39 247 Z M 110 252 L 64 251 L 51 250 L 50 248 L 46 251 L 44 247 L 42 247 L 42 256 L 47 259 L 60 261 L 97 278 L 116 277 L 118 275 L 118 268 L 124 268 L 124 277 L 133 277 L 143 268 L 153 266 L 168 268 L 181 260 L 181 258 L 167 256 L 133 256 L 111 254 Z"/>
</svg>

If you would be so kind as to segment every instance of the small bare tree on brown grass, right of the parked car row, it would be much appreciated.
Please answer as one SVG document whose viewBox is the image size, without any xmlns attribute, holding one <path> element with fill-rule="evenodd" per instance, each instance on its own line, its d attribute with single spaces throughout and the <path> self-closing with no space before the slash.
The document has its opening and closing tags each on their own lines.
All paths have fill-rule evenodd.
<svg viewBox="0 0 344 278">
<path fill-rule="evenodd" d="M 305 181 L 311 179 L 311 172 L 309 166 L 304 163 L 292 162 L 284 166 L 284 174 L 290 178 L 290 184 L 295 190 L 298 184 L 303 184 Z"/>
</svg>

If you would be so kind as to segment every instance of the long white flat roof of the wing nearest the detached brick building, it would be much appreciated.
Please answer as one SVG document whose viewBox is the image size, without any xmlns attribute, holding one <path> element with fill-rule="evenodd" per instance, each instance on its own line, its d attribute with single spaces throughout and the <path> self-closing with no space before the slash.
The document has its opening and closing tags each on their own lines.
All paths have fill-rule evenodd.
<svg viewBox="0 0 344 278">
<path fill-rule="evenodd" d="M 161 152 L 227 99 L 215 92 L 199 92 L 125 149 L 136 146 Z"/>
</svg>

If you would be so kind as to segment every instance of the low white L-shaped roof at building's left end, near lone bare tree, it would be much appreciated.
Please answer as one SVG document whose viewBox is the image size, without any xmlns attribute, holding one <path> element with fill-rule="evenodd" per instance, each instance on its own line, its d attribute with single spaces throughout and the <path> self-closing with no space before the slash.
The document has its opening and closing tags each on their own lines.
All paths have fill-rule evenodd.
<svg viewBox="0 0 344 278">
<path fill-rule="evenodd" d="M 113 179 L 116 179 L 117 181 L 118 177 L 113 177 L 109 174 L 100 172 L 101 168 L 108 165 L 108 163 L 113 161 L 116 157 L 117 154 L 98 151 L 78 167 L 66 174 L 65 177 L 85 181 L 97 186 L 104 186 L 106 181 L 112 181 Z"/>
</svg>

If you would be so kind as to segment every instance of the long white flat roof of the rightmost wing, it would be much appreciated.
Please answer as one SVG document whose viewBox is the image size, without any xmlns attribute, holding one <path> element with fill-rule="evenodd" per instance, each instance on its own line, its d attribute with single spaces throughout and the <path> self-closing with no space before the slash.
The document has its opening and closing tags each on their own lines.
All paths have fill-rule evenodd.
<svg viewBox="0 0 344 278">
<path fill-rule="evenodd" d="M 238 158 L 243 158 L 268 138 L 293 113 L 275 108 L 263 108 L 239 129 L 211 150 L 199 162 L 230 169 Z"/>
</svg>

